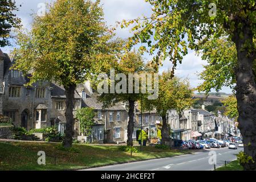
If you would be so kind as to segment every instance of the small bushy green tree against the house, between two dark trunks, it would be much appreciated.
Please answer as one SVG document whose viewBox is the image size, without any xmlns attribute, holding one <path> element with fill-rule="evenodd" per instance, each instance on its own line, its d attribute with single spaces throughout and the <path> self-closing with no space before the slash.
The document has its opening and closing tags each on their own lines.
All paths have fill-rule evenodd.
<svg viewBox="0 0 256 182">
<path fill-rule="evenodd" d="M 76 111 L 76 118 L 79 120 L 81 133 L 91 135 L 95 115 L 95 110 L 90 107 L 83 107 Z"/>
</svg>

